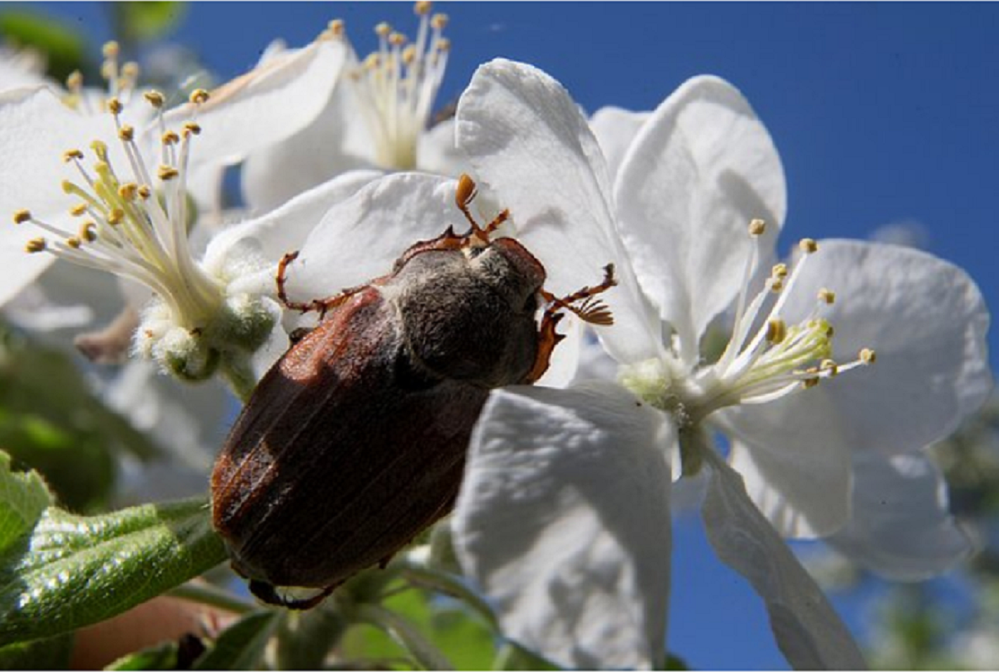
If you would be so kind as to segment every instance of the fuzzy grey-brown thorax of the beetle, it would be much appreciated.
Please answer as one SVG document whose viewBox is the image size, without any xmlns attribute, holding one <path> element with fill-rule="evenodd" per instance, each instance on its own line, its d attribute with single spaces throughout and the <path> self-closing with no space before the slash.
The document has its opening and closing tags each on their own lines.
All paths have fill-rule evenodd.
<svg viewBox="0 0 999 672">
<path fill-rule="evenodd" d="M 414 361 L 436 375 L 484 387 L 520 382 L 537 354 L 540 264 L 499 239 L 461 250 L 428 250 L 380 290 L 398 311 Z"/>
</svg>

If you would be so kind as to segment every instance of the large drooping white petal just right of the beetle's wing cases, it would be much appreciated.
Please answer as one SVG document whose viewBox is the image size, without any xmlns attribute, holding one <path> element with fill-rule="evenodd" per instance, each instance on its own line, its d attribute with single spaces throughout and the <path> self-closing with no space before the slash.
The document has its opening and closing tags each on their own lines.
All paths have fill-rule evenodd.
<svg viewBox="0 0 999 672">
<path fill-rule="evenodd" d="M 661 663 L 674 436 L 616 385 L 493 393 L 453 524 L 504 634 L 570 668 Z"/>
</svg>

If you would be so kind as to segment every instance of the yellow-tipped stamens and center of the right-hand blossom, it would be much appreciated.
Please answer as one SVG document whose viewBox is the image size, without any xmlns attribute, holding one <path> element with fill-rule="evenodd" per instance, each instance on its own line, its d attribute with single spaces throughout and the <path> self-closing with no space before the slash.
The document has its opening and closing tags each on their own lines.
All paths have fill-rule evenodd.
<svg viewBox="0 0 999 672">
<path fill-rule="evenodd" d="M 847 363 L 831 359 L 833 328 L 820 316 L 835 301 L 829 290 L 818 293 L 815 308 L 804 320 L 788 325 L 781 317 L 802 269 L 818 252 L 810 239 L 801 241 L 802 255 L 793 270 L 785 264 L 774 266 L 763 289 L 747 301 L 763 223 L 754 220 L 749 233 L 756 243 L 747 258 L 732 333 L 718 360 L 690 366 L 668 354 L 622 370 L 622 384 L 671 413 L 681 430 L 695 427 L 719 408 L 772 401 L 874 361 L 874 351 L 868 348 Z"/>
</svg>

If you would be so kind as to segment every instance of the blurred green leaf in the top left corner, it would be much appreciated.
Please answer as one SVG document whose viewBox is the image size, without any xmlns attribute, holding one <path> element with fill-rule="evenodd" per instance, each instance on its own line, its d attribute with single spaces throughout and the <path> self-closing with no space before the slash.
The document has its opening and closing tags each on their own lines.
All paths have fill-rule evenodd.
<svg viewBox="0 0 999 672">
<path fill-rule="evenodd" d="M 83 36 L 52 17 L 5 9 L 0 14 L 0 35 L 9 44 L 41 52 L 49 76 L 59 81 L 65 80 L 74 70 L 88 69 Z"/>
</svg>

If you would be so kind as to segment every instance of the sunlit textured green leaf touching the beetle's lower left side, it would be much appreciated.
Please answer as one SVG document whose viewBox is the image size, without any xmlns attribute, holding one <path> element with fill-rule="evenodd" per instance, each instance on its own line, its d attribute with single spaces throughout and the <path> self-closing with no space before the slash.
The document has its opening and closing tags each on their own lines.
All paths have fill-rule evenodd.
<svg viewBox="0 0 999 672">
<path fill-rule="evenodd" d="M 49 507 L 0 553 L 0 645 L 105 620 L 225 559 L 200 498 L 96 516 Z"/>
</svg>

